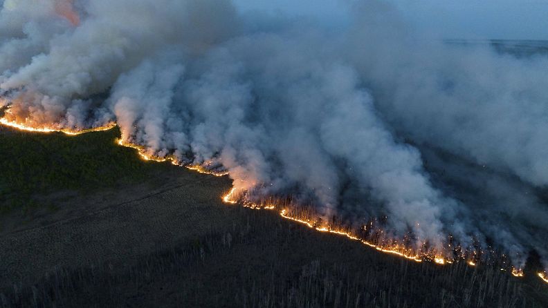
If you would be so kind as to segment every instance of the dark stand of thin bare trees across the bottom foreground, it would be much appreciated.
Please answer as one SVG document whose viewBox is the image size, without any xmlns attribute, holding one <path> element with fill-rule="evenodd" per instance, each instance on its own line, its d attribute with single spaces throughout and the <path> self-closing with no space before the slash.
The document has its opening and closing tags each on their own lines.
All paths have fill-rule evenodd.
<svg viewBox="0 0 548 308">
<path fill-rule="evenodd" d="M 274 213 L 120 264 L 13 281 L 0 307 L 547 307 L 548 287 L 493 267 L 402 260 Z"/>
</svg>

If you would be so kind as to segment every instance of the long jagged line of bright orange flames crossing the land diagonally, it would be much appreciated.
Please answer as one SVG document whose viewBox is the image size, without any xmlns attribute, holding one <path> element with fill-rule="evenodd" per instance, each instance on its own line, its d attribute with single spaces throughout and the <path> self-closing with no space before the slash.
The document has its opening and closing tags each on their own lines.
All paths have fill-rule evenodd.
<svg viewBox="0 0 548 308">
<path fill-rule="evenodd" d="M 3 112 L 9 113 L 9 108 L 6 108 Z M 103 126 L 86 129 L 55 128 L 55 126 L 33 127 L 12 122 L 6 119 L 6 117 L 0 117 L 0 125 L 33 133 L 64 133 L 65 135 L 74 136 L 96 131 L 107 131 L 116 127 L 117 124 L 109 122 Z M 136 149 L 140 158 L 145 161 L 171 162 L 176 166 L 184 166 L 189 170 L 217 177 L 228 175 L 226 171 L 211 169 L 211 165 L 208 162 L 203 164 L 188 164 L 181 162 L 174 155 L 165 155 L 164 157 L 149 155 L 144 146 L 123 141 L 122 138 L 116 139 L 116 144 Z M 476 267 L 482 263 L 494 264 L 500 267 L 501 271 L 509 271 L 511 275 L 518 278 L 524 277 L 523 269 L 514 267 L 511 260 L 504 253 L 499 253 L 491 247 L 480 247 L 479 243 L 477 243 L 477 246 L 473 250 L 463 249 L 456 241 L 453 242 L 451 235 L 448 235 L 445 251 L 432 249 L 429 247 L 428 242 L 423 242 L 421 247 L 413 247 L 412 240 L 410 240 L 412 237 L 411 233 L 405 235 L 403 240 L 399 240 L 387 233 L 383 228 L 382 221 L 386 218 L 372 218 L 365 224 L 356 226 L 355 223 L 347 224 L 338 220 L 336 215 L 326 218 L 325 215 L 318 213 L 313 206 L 296 204 L 291 200 L 291 196 L 284 198 L 264 198 L 261 196 L 257 198 L 253 195 L 253 191 L 237 191 L 234 187 L 228 193 L 222 195 L 221 200 L 226 204 L 241 204 L 241 206 L 248 209 L 276 211 L 286 220 L 291 220 L 319 232 L 340 235 L 349 240 L 358 241 L 379 252 L 389 253 L 414 262 L 432 262 L 440 265 L 466 262 L 471 267 Z M 537 276 L 543 282 L 548 283 L 548 273 L 546 271 L 539 271 Z"/>
</svg>

